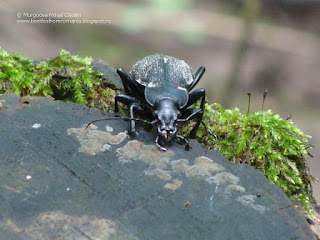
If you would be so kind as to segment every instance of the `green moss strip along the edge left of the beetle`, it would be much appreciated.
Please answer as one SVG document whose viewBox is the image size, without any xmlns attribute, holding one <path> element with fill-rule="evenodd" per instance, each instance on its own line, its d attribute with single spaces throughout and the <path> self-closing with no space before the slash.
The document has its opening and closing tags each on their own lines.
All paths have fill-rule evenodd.
<svg viewBox="0 0 320 240">
<path fill-rule="evenodd" d="M 101 87 L 101 73 L 92 71 L 91 62 L 61 50 L 59 56 L 34 64 L 0 48 L 0 93 L 52 96 L 108 111 L 115 92 Z"/>
</svg>

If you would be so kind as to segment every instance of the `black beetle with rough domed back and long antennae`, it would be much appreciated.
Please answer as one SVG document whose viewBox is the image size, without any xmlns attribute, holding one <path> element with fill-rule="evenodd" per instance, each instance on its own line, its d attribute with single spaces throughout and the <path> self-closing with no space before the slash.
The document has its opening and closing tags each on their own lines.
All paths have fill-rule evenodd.
<svg viewBox="0 0 320 240">
<path fill-rule="evenodd" d="M 138 61 L 133 66 L 130 75 L 122 68 L 118 68 L 117 73 L 122 80 L 126 94 L 119 94 L 115 97 L 115 112 L 119 112 L 118 103 L 121 102 L 129 106 L 130 118 L 113 117 L 93 122 L 115 119 L 126 120 L 130 122 L 130 134 L 136 132 L 136 121 L 157 125 L 158 136 L 155 142 L 161 150 L 165 151 L 163 145 L 175 138 L 184 141 L 186 149 L 189 149 L 188 141 L 177 134 L 179 122 L 196 118 L 196 125 L 190 132 L 191 138 L 196 137 L 196 132 L 201 123 L 210 134 L 214 135 L 202 121 L 205 90 L 199 88 L 189 93 L 199 82 L 204 72 L 205 68 L 200 67 L 193 75 L 191 68 L 185 61 L 162 54 L 147 56 Z M 188 108 L 200 99 L 200 108 Z M 140 117 L 149 116 L 154 120 L 149 122 L 136 118 L 135 114 Z"/>
</svg>

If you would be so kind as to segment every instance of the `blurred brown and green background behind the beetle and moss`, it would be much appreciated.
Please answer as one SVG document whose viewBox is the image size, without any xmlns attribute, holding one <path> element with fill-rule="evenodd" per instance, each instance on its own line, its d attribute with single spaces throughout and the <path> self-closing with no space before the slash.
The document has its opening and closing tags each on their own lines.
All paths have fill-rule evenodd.
<svg viewBox="0 0 320 240">
<path fill-rule="evenodd" d="M 79 13 L 62 19 L 111 23 L 18 23 L 30 19 L 23 13 Z M 66 49 L 128 71 L 155 53 L 184 59 L 194 71 L 204 65 L 199 87 L 208 99 L 243 113 L 246 93 L 252 93 L 252 111 L 260 110 L 268 88 L 265 109 L 291 115 L 313 136 L 311 172 L 320 177 L 319 0 L 0 0 L 0 21 L 0 46 L 27 58 Z"/>
</svg>

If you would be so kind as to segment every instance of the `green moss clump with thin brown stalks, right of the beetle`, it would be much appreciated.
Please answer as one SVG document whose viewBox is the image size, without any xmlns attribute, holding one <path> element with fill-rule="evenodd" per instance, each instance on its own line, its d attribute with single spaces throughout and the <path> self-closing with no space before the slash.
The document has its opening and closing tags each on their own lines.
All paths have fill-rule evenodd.
<svg viewBox="0 0 320 240">
<path fill-rule="evenodd" d="M 201 128 L 199 141 L 231 162 L 247 163 L 260 170 L 310 212 L 314 181 L 306 163 L 310 136 L 271 110 L 244 115 L 238 108 L 230 110 L 219 104 L 206 104 L 204 122 L 220 137 L 215 139 Z M 185 133 L 188 131 L 190 126 L 184 129 Z"/>
</svg>

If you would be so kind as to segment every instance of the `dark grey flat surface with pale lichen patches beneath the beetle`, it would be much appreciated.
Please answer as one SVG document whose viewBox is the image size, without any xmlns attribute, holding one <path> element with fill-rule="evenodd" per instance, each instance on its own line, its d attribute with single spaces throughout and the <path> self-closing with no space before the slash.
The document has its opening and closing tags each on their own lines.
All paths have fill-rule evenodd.
<svg viewBox="0 0 320 240">
<path fill-rule="evenodd" d="M 0 99 L 0 239 L 316 239 L 281 189 L 196 141 L 161 152 L 126 122 L 84 129 L 105 115 L 82 105 Z"/>
</svg>

